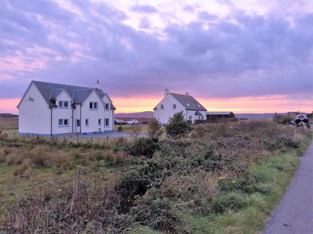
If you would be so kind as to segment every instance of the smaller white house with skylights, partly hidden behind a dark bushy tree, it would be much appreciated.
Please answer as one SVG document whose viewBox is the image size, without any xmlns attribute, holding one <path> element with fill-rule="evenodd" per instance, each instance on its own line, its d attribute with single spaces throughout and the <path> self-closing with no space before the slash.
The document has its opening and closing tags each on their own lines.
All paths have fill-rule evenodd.
<svg viewBox="0 0 313 234">
<path fill-rule="evenodd" d="M 183 111 L 186 120 L 206 119 L 206 111 L 196 99 L 188 94 L 170 93 L 164 90 L 164 98 L 153 109 L 153 117 L 159 119 L 162 124 L 167 124 L 169 117 L 175 113 Z"/>
</svg>

